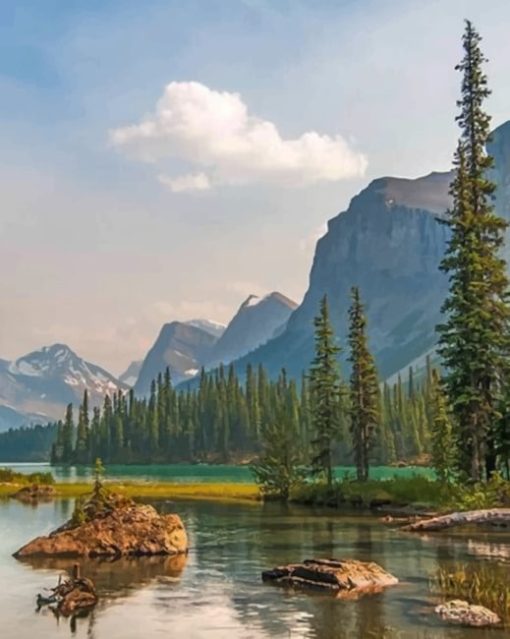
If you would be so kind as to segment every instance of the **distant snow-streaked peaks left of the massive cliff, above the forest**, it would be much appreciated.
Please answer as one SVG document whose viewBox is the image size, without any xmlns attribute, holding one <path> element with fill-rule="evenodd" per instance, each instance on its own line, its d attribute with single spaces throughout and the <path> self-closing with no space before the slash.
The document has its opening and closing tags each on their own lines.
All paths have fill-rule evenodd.
<svg viewBox="0 0 510 639">
<path fill-rule="evenodd" d="M 67 404 L 78 405 L 85 389 L 90 406 L 105 394 L 134 387 L 150 391 L 151 381 L 170 368 L 174 383 L 239 358 L 283 329 L 296 304 L 281 293 L 259 299 L 251 295 L 228 326 L 206 319 L 165 324 L 141 361 L 119 378 L 85 361 L 64 344 L 46 346 L 12 362 L 0 360 L 0 432 L 27 423 L 61 419 Z"/>
</svg>

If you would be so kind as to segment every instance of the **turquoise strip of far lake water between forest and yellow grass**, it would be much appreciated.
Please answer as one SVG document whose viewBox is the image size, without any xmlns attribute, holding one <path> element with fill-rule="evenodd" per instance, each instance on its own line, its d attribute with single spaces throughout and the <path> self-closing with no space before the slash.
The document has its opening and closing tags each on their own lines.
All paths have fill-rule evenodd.
<svg viewBox="0 0 510 639">
<path fill-rule="evenodd" d="M 88 466 L 50 466 L 49 464 L 16 464 L 2 463 L 0 468 L 12 468 L 21 473 L 51 472 L 57 481 L 75 482 L 91 481 L 92 467 Z M 339 479 L 346 474 L 355 476 L 352 466 L 338 466 L 335 475 Z M 393 477 L 409 477 L 411 475 L 433 476 L 430 468 L 420 466 L 408 466 L 406 468 L 394 468 L 390 466 L 375 466 L 370 469 L 370 477 L 383 479 Z M 233 466 L 227 464 L 152 464 L 152 465 L 128 465 L 112 464 L 106 468 L 107 479 L 116 481 L 168 481 L 183 483 L 201 482 L 253 482 L 253 475 L 248 466 Z"/>
</svg>

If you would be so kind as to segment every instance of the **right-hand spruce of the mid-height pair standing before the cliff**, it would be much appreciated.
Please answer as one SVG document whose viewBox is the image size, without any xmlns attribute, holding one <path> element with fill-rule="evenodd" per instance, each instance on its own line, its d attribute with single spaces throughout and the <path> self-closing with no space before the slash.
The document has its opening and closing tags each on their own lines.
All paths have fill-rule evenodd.
<svg viewBox="0 0 510 639">
<path fill-rule="evenodd" d="M 370 454 L 380 423 L 379 383 L 374 358 L 368 349 L 367 320 L 359 289 L 351 289 L 349 309 L 349 361 L 351 362 L 349 413 L 354 462 L 359 481 L 368 479 Z"/>
</svg>

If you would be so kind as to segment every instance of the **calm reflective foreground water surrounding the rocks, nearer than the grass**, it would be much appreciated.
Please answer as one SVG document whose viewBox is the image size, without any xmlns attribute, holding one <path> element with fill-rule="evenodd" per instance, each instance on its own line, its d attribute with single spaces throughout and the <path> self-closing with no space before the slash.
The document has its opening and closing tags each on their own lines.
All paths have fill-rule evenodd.
<svg viewBox="0 0 510 639">
<path fill-rule="evenodd" d="M 454 560 L 510 555 L 501 532 L 429 536 L 399 533 L 364 515 L 277 504 L 155 502 L 178 512 L 188 530 L 183 558 L 86 561 L 100 603 L 86 618 L 57 620 L 35 611 L 37 593 L 72 562 L 20 563 L 24 542 L 65 521 L 72 500 L 35 507 L 0 500 L 0 636 L 6 639 L 502 639 L 502 630 L 445 628 L 431 612 L 429 575 Z M 358 601 L 291 594 L 263 584 L 261 570 L 307 557 L 374 560 L 401 584 Z M 73 634 L 74 633 L 74 634 Z"/>
</svg>

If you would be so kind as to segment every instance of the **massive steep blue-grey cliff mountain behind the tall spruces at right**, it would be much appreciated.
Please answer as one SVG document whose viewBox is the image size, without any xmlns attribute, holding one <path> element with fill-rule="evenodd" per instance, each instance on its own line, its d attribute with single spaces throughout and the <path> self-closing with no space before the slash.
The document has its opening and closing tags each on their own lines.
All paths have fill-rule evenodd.
<svg viewBox="0 0 510 639">
<path fill-rule="evenodd" d="M 495 206 L 510 217 L 510 122 L 498 127 L 488 145 L 495 159 Z M 437 341 L 435 327 L 447 293 L 438 270 L 449 230 L 438 223 L 450 205 L 452 173 L 417 179 L 385 177 L 371 182 L 348 209 L 330 220 L 317 243 L 302 304 L 285 331 L 236 361 L 262 363 L 274 376 L 284 366 L 298 376 L 313 356 L 313 318 L 327 294 L 331 318 L 346 348 L 349 290 L 361 289 L 369 321 L 370 345 L 380 374 L 387 378 L 411 362 L 423 362 Z M 510 232 L 505 257 L 510 264 Z"/>
</svg>

